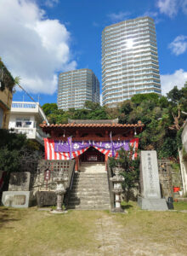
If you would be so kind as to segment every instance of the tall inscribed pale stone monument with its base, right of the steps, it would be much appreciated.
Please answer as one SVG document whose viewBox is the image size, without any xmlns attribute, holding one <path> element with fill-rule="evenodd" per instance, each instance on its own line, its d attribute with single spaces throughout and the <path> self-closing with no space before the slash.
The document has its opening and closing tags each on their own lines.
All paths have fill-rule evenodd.
<svg viewBox="0 0 187 256">
<path fill-rule="evenodd" d="M 166 211 L 167 201 L 161 198 L 156 151 L 141 151 L 140 162 L 141 196 L 138 204 L 144 210 Z"/>
</svg>

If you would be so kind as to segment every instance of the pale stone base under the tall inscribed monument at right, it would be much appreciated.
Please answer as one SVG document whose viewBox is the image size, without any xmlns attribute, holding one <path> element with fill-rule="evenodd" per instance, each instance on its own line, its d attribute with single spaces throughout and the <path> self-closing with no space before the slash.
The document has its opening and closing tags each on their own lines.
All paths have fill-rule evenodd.
<svg viewBox="0 0 187 256">
<path fill-rule="evenodd" d="M 138 205 L 143 210 L 167 211 L 167 201 L 163 198 L 143 198 L 138 197 Z"/>
</svg>

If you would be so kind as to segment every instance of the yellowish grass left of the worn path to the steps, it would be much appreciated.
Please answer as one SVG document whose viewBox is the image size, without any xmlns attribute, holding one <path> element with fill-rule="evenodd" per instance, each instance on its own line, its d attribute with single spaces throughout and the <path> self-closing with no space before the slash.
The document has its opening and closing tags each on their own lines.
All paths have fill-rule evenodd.
<svg viewBox="0 0 187 256">
<path fill-rule="evenodd" d="M 37 208 L 1 207 L 0 216 L 1 255 L 48 255 L 48 248 L 55 255 L 56 248 L 63 252 L 70 247 L 94 246 L 89 225 L 94 226 L 95 216 L 89 212 L 51 215 Z"/>
</svg>

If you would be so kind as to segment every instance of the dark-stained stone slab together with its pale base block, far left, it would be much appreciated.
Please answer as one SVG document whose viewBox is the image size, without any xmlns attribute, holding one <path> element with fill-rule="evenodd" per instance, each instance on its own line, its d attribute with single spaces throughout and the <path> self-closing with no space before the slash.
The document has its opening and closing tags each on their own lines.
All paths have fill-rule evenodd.
<svg viewBox="0 0 187 256">
<path fill-rule="evenodd" d="M 30 207 L 34 196 L 30 191 L 31 173 L 12 172 L 10 174 L 8 191 L 3 191 L 2 203 L 5 207 Z"/>
</svg>

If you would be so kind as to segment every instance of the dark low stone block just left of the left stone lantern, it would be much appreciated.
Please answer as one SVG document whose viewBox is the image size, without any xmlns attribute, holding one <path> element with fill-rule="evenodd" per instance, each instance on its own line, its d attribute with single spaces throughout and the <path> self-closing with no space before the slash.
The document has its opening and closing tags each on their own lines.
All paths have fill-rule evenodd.
<svg viewBox="0 0 187 256">
<path fill-rule="evenodd" d="M 54 191 L 37 191 L 37 206 L 49 207 L 56 205 L 56 194 Z"/>
</svg>

